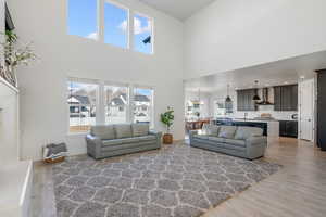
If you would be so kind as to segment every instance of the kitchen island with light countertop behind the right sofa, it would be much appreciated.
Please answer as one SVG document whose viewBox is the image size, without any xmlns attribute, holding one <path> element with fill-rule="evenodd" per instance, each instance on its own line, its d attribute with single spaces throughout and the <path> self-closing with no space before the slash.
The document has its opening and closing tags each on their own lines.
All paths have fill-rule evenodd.
<svg viewBox="0 0 326 217">
<path fill-rule="evenodd" d="M 276 119 L 244 119 L 244 118 L 223 118 L 213 120 L 215 125 L 259 127 L 264 130 L 267 137 L 279 137 L 279 122 Z"/>
</svg>

